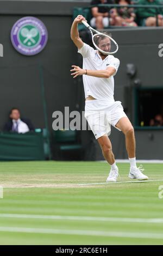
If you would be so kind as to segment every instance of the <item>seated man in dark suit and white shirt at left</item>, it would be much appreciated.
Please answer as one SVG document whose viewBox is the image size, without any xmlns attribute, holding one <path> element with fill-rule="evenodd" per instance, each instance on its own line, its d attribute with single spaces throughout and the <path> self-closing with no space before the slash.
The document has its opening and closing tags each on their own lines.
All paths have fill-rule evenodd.
<svg viewBox="0 0 163 256">
<path fill-rule="evenodd" d="M 4 125 L 4 131 L 17 133 L 34 131 L 34 126 L 31 121 L 26 118 L 21 118 L 20 110 L 18 108 L 12 108 L 9 117 L 10 120 Z"/>
</svg>

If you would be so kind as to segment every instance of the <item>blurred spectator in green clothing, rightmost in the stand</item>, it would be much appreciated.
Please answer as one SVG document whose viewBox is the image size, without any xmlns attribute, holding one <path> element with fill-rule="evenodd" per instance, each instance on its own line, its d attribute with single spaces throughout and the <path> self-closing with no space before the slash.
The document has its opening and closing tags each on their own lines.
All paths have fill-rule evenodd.
<svg viewBox="0 0 163 256">
<path fill-rule="evenodd" d="M 139 4 L 143 5 L 158 5 L 159 0 L 139 0 Z M 162 6 L 163 8 L 163 6 Z M 158 25 L 163 26 L 163 11 L 158 9 Z M 156 9 L 154 8 L 137 8 L 137 16 L 140 19 L 141 26 L 156 26 Z"/>
</svg>

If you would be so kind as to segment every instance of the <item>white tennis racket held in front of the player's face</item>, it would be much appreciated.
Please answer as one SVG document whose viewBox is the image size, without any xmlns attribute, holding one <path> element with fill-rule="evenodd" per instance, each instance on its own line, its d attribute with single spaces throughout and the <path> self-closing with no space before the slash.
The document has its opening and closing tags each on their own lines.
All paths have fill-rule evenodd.
<svg viewBox="0 0 163 256">
<path fill-rule="evenodd" d="M 89 29 L 92 36 L 93 45 L 104 55 L 115 54 L 118 51 L 118 45 L 108 34 L 101 33 L 92 28 L 86 21 L 82 21 L 85 27 Z"/>
</svg>

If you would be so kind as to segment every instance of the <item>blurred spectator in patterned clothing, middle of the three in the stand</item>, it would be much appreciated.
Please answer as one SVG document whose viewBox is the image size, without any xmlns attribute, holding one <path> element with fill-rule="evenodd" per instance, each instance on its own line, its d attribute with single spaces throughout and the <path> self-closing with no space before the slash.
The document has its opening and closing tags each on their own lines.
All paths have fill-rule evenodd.
<svg viewBox="0 0 163 256">
<path fill-rule="evenodd" d="M 115 0 L 116 4 L 128 5 L 131 4 L 130 0 Z M 113 8 L 110 10 L 110 23 L 112 26 L 136 27 L 135 13 L 133 8 Z"/>
</svg>

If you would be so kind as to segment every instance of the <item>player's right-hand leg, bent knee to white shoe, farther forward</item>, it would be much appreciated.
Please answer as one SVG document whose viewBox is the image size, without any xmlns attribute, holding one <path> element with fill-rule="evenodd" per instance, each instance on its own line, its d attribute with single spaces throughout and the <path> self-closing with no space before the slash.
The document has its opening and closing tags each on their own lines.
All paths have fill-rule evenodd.
<svg viewBox="0 0 163 256">
<path fill-rule="evenodd" d="M 124 133 L 126 138 L 126 149 L 130 162 L 129 178 L 147 180 L 148 176 L 142 174 L 142 166 L 140 166 L 139 168 L 137 168 L 136 166 L 134 128 L 131 125 L 128 117 L 122 117 L 117 122 L 116 127 Z"/>
</svg>

